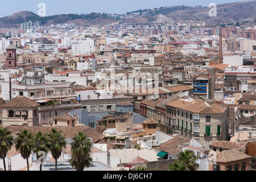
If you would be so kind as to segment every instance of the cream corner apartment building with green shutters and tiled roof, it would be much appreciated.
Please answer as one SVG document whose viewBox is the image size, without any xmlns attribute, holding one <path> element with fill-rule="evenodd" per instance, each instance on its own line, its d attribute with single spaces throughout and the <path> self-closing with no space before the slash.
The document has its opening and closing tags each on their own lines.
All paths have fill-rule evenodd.
<svg viewBox="0 0 256 182">
<path fill-rule="evenodd" d="M 203 100 L 179 99 L 166 104 L 170 134 L 193 137 L 209 147 L 215 140 L 228 139 L 228 109 Z M 163 123 L 164 125 L 164 123 Z"/>
</svg>

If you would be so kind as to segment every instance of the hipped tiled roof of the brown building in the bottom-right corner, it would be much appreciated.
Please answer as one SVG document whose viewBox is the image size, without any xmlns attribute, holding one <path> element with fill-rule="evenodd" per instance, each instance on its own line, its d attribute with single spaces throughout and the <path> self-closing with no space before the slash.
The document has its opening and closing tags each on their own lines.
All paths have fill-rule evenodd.
<svg viewBox="0 0 256 182">
<path fill-rule="evenodd" d="M 234 162 L 236 160 L 242 160 L 242 159 L 248 159 L 248 158 L 250 158 L 249 155 L 239 150 L 232 149 L 232 150 L 225 150 L 225 151 L 219 152 L 218 154 L 210 157 L 208 160 L 216 161 L 219 163 L 228 163 L 228 162 Z"/>
</svg>

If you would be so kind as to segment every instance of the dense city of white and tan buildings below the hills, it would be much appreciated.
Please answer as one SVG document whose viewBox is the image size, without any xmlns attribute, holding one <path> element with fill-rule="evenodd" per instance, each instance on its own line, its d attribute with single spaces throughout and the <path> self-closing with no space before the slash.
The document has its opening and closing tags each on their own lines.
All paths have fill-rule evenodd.
<svg viewBox="0 0 256 182">
<path fill-rule="evenodd" d="M 256 170 L 255 21 L 160 10 L 0 27 L 0 171 Z"/>
</svg>

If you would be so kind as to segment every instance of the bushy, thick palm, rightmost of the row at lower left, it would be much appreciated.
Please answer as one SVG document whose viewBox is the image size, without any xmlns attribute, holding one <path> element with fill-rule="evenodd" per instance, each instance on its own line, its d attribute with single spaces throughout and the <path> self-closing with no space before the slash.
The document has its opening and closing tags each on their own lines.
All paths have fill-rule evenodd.
<svg viewBox="0 0 256 182">
<path fill-rule="evenodd" d="M 69 160 L 72 167 L 77 171 L 83 171 L 85 166 L 89 168 L 92 158 L 90 157 L 92 142 L 86 134 L 79 133 L 72 138 L 71 143 L 72 158 Z"/>
</svg>

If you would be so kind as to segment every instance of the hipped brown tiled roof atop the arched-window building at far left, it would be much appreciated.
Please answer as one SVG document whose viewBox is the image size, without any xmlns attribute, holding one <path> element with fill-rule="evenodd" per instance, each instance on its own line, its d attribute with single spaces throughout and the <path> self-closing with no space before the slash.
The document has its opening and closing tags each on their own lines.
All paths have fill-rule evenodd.
<svg viewBox="0 0 256 182">
<path fill-rule="evenodd" d="M 39 106 L 35 101 L 30 100 L 25 96 L 14 97 L 11 101 L 3 105 L 3 107 L 36 107 Z"/>
</svg>

